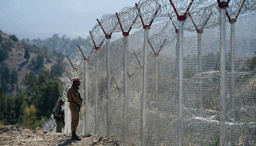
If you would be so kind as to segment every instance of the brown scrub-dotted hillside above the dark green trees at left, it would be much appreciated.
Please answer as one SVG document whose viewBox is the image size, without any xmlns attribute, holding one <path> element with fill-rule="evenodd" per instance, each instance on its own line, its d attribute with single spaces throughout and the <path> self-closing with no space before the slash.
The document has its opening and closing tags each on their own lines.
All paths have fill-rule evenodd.
<svg viewBox="0 0 256 146">
<path fill-rule="evenodd" d="M 56 76 L 64 77 L 67 67 L 64 58 L 56 50 L 31 45 L 0 30 L 0 86 L 5 93 L 15 95 L 23 88 L 26 74 L 52 70 Z"/>
</svg>

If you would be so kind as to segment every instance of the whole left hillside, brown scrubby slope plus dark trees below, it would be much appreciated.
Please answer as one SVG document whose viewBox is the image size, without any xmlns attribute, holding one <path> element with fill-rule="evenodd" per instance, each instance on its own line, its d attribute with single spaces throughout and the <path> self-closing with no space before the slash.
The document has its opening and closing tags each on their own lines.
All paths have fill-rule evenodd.
<svg viewBox="0 0 256 146">
<path fill-rule="evenodd" d="M 64 87 L 64 55 L 0 30 L 0 125 L 40 127 Z"/>
</svg>

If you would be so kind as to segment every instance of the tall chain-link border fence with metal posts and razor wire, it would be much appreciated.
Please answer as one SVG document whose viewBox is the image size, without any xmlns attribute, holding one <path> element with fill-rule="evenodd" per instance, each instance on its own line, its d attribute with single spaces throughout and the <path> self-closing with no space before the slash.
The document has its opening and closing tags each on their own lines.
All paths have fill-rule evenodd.
<svg viewBox="0 0 256 146">
<path fill-rule="evenodd" d="M 256 145 L 255 0 L 141 0 L 97 22 L 68 57 L 82 80 L 77 133 L 125 146 Z"/>
</svg>

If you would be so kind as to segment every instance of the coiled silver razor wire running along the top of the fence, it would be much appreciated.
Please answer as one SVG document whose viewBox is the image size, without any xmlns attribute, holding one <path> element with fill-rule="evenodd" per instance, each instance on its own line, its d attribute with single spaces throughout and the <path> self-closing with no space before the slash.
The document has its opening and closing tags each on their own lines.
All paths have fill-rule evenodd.
<svg viewBox="0 0 256 146">
<path fill-rule="evenodd" d="M 184 30 L 186 31 L 196 31 L 197 29 L 203 28 L 211 29 L 219 25 L 219 7 L 216 0 L 140 0 L 136 4 L 138 9 L 136 5 L 133 7 L 127 6 L 121 9 L 120 12 L 117 12 L 120 21 L 118 21 L 116 14 L 104 14 L 102 16 L 99 20 L 101 26 L 97 22 L 90 31 L 90 35 L 88 35 L 82 42 L 81 49 L 86 57 L 90 56 L 92 50 L 95 49 L 95 46 L 98 47 L 105 41 L 106 36 L 103 30 L 106 34 L 121 32 L 122 30 L 118 24 L 119 22 L 121 23 L 124 32 L 127 32 L 131 27 L 142 28 L 143 25 L 139 15 L 141 15 L 145 25 L 149 24 L 153 19 L 154 22 L 165 22 L 172 19 L 172 23 L 178 29 L 177 14 L 184 15 L 185 13 L 188 13 L 191 15 L 192 19 L 188 18 L 188 15 L 186 16 L 187 19 L 185 19 L 184 23 Z M 190 8 L 188 11 L 189 6 Z M 255 10 L 255 0 L 230 0 L 229 7 L 227 7 L 227 14 L 230 18 L 234 18 L 245 14 L 248 11 Z M 156 12 L 157 14 L 155 14 Z M 229 19 L 227 18 L 226 21 L 229 21 Z M 152 39 L 152 44 L 157 43 L 159 45 L 159 39 L 172 41 L 176 35 L 174 33 L 174 26 L 169 24 L 166 24 L 166 27 L 159 30 L 158 34 L 161 35 L 159 35 L 158 39 Z M 165 38 L 162 35 L 168 36 L 168 38 Z M 79 53 L 79 50 L 76 50 L 73 56 L 74 57 L 71 58 L 73 59 L 74 64 L 79 65 L 83 58 Z"/>
</svg>

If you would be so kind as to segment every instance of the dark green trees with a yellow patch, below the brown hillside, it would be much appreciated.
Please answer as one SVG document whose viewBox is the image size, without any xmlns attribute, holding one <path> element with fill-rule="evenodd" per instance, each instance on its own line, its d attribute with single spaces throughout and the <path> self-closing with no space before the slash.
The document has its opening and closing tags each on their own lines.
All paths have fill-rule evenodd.
<svg viewBox="0 0 256 146">
<path fill-rule="evenodd" d="M 19 124 L 35 129 L 51 116 L 63 88 L 56 72 L 31 72 L 24 82 L 25 88 L 15 96 L 4 93 L 0 87 L 0 125 Z"/>
</svg>

